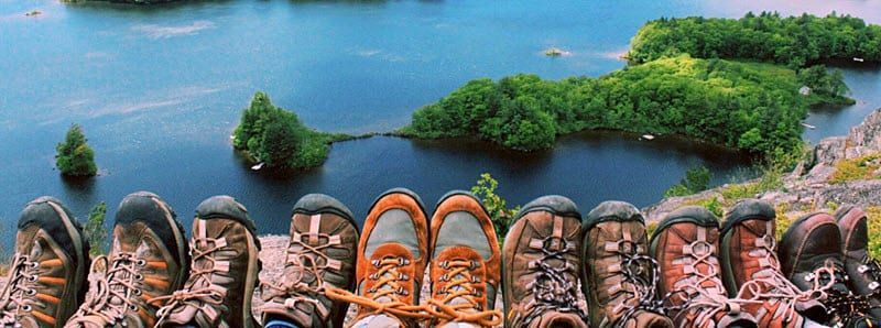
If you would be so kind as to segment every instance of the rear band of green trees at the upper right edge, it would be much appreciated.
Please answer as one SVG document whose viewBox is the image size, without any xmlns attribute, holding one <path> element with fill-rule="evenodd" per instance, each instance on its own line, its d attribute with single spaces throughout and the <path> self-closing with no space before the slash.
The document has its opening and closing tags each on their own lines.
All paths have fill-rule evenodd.
<svg viewBox="0 0 881 328">
<path fill-rule="evenodd" d="M 631 41 L 631 63 L 690 54 L 698 58 L 740 58 L 803 67 L 860 57 L 881 62 L 881 26 L 835 12 L 783 18 L 747 13 L 735 19 L 660 19 L 640 29 Z"/>
</svg>

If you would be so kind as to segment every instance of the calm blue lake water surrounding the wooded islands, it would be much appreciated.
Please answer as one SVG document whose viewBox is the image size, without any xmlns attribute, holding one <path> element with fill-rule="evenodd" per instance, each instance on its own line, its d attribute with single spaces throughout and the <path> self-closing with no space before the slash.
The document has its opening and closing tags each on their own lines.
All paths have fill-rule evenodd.
<svg viewBox="0 0 881 328">
<path fill-rule="evenodd" d="M 80 216 L 108 201 L 112 215 L 126 194 L 149 189 L 185 221 L 199 200 L 229 194 L 249 207 L 261 233 L 281 233 L 291 205 L 313 192 L 337 196 L 362 217 L 387 188 L 410 187 L 431 208 L 447 189 L 468 188 L 489 172 L 511 204 L 556 193 L 587 210 L 611 198 L 649 205 L 696 165 L 711 167 L 714 184 L 748 176 L 742 155 L 621 133 L 569 135 L 529 155 L 468 140 L 373 138 L 336 144 L 323 167 L 286 177 L 249 171 L 228 144 L 255 90 L 320 130 L 389 131 L 472 78 L 620 68 L 630 37 L 659 17 L 837 10 L 881 23 L 881 4 L 871 1 L 729 2 L 0 0 L 3 233 L 28 200 L 46 194 Z M 32 9 L 44 14 L 25 18 Z M 548 46 L 574 55 L 547 58 Z M 818 129 L 807 140 L 842 134 L 881 106 L 879 69 L 845 69 L 858 103 L 816 109 L 808 122 Z M 84 125 L 101 168 L 86 183 L 53 170 L 55 143 L 72 122 Z"/>
</svg>

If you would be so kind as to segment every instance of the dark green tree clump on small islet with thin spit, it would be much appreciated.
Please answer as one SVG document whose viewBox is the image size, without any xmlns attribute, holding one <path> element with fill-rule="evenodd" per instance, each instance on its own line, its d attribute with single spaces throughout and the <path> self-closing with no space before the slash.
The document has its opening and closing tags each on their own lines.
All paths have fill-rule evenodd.
<svg viewBox="0 0 881 328">
<path fill-rule="evenodd" d="M 330 143 L 347 138 L 305 127 L 294 112 L 273 106 L 267 94 L 258 91 L 242 112 L 232 145 L 269 167 L 303 168 L 324 163 Z"/>
</svg>

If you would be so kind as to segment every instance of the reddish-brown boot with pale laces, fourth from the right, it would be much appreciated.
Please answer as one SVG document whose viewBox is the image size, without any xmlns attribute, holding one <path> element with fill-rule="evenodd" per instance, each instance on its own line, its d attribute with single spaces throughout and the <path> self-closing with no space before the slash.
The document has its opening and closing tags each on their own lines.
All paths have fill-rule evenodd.
<svg viewBox="0 0 881 328">
<path fill-rule="evenodd" d="M 699 206 L 674 210 L 652 236 L 660 292 L 677 327 L 757 327 L 743 302 L 728 298 L 718 249 L 719 219 Z"/>
</svg>

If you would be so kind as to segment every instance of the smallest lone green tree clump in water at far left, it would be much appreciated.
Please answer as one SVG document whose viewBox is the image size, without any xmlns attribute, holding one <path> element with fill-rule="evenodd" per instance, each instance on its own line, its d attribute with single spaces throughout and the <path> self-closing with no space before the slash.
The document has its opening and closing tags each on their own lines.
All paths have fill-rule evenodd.
<svg viewBox="0 0 881 328">
<path fill-rule="evenodd" d="M 88 145 L 83 127 L 72 124 L 67 135 L 55 150 L 55 166 L 67 176 L 94 176 L 98 173 L 95 165 L 95 151 Z"/>
</svg>

